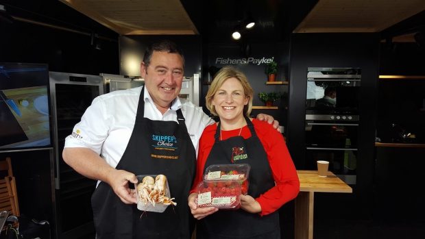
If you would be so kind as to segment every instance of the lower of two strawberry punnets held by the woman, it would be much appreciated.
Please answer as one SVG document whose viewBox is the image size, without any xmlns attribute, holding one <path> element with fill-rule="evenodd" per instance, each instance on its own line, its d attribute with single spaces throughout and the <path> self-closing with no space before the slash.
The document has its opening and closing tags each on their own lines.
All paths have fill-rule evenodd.
<svg viewBox="0 0 425 239">
<path fill-rule="evenodd" d="M 197 186 L 198 207 L 236 210 L 241 207 L 241 184 L 235 180 L 202 181 Z"/>
</svg>

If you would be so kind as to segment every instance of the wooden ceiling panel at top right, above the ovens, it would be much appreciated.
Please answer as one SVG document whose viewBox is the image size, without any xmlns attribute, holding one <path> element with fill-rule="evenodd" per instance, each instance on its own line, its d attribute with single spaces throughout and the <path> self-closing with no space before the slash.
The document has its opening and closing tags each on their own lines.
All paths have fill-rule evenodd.
<svg viewBox="0 0 425 239">
<path fill-rule="evenodd" d="M 423 10 L 424 0 L 319 0 L 293 32 L 380 32 Z"/>
</svg>

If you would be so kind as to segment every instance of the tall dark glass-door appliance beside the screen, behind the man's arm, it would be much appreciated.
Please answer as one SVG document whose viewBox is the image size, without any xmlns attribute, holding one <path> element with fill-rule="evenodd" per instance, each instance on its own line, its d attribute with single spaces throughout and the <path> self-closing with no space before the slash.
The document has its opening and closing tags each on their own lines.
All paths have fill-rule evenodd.
<svg viewBox="0 0 425 239">
<path fill-rule="evenodd" d="M 99 75 L 49 72 L 54 123 L 54 175 L 56 199 L 56 238 L 84 238 L 94 235 L 90 205 L 96 181 L 74 171 L 62 159 L 66 136 L 80 121 L 95 97 L 104 94 Z"/>
</svg>

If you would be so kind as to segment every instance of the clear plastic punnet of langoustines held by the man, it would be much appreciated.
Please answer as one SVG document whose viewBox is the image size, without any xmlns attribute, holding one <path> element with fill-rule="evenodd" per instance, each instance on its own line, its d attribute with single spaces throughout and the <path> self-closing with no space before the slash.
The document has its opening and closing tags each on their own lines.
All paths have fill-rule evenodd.
<svg viewBox="0 0 425 239">
<path fill-rule="evenodd" d="M 169 205 L 177 205 L 170 195 L 165 175 L 137 175 L 137 209 L 147 212 L 164 212 Z"/>
</svg>

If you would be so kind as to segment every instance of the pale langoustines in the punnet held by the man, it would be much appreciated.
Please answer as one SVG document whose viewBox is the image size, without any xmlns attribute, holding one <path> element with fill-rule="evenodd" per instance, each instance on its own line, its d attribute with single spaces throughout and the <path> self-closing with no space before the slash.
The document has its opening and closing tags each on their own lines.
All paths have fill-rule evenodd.
<svg viewBox="0 0 425 239">
<path fill-rule="evenodd" d="M 167 197 L 167 177 L 165 175 L 158 175 L 154 177 L 146 176 L 143 177 L 142 182 L 137 185 L 137 192 L 139 200 L 147 204 L 152 203 L 155 206 L 156 203 L 162 203 L 164 205 L 177 205 L 173 202 L 173 199 Z"/>
</svg>

